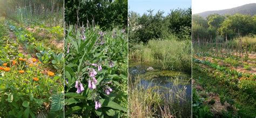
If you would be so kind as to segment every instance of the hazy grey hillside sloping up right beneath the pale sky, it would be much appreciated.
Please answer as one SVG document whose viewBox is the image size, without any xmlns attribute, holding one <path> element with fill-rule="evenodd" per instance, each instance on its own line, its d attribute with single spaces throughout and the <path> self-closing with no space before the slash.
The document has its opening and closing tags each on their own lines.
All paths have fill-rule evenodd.
<svg viewBox="0 0 256 118">
<path fill-rule="evenodd" d="M 206 18 L 208 15 L 211 15 L 213 13 L 218 13 L 219 15 L 234 15 L 235 13 L 241 13 L 253 16 L 256 14 L 256 3 L 245 4 L 231 9 L 205 11 L 201 13 L 196 13 L 195 15 Z"/>
</svg>

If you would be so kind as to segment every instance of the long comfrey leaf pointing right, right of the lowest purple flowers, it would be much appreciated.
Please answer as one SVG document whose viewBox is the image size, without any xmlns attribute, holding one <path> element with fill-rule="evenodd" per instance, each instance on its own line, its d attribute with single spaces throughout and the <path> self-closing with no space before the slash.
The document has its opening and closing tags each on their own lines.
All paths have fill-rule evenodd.
<svg viewBox="0 0 256 118">
<path fill-rule="evenodd" d="M 106 99 L 100 99 L 99 102 L 102 104 L 102 107 L 109 107 L 117 110 L 122 110 L 123 112 L 127 112 L 127 109 L 123 108 L 122 106 L 118 105 L 118 103 L 106 100 Z"/>
</svg>

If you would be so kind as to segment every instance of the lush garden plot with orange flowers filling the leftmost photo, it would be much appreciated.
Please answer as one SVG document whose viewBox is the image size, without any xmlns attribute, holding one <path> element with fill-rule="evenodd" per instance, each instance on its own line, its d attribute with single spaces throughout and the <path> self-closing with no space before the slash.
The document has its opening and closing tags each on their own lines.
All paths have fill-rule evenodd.
<svg viewBox="0 0 256 118">
<path fill-rule="evenodd" d="M 4 117 L 62 117 L 63 28 L 62 18 L 46 11 L 45 2 L 0 1 L 0 115 Z M 31 6 L 31 4 L 33 5 Z M 38 5 L 40 4 L 40 5 Z M 25 7 L 29 5 L 30 7 Z M 9 6 L 9 7 L 6 7 Z M 61 6 L 61 5 L 59 5 Z M 62 8 L 52 9 L 52 13 Z M 20 11 L 20 12 L 18 12 Z M 48 20 L 49 18 L 55 19 Z M 47 22 L 46 22 L 47 21 Z M 63 23 L 63 22 L 62 22 Z M 53 26 L 52 24 L 55 24 Z M 51 40 L 51 41 L 49 41 Z M 54 43 L 53 43 L 54 41 Z M 58 45 L 58 46 L 57 46 Z"/>
</svg>

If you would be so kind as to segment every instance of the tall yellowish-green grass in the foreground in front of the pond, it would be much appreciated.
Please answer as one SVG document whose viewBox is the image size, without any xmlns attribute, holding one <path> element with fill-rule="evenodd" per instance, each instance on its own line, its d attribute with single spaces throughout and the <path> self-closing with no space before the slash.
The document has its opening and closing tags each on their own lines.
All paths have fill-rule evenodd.
<svg viewBox="0 0 256 118">
<path fill-rule="evenodd" d="M 171 88 L 159 86 L 144 88 L 140 84 L 140 77 L 136 82 L 129 79 L 129 116 L 130 117 L 190 117 L 191 99 L 186 96 L 186 88 L 180 88 L 181 83 L 178 77 L 173 78 Z M 132 83 L 132 84 L 131 84 Z M 190 80 L 187 81 L 187 84 Z M 152 84 L 152 82 L 151 82 Z M 169 96 L 166 98 L 162 93 Z M 173 91 L 176 89 L 176 91 Z M 161 93 L 160 93 L 161 92 Z"/>
</svg>

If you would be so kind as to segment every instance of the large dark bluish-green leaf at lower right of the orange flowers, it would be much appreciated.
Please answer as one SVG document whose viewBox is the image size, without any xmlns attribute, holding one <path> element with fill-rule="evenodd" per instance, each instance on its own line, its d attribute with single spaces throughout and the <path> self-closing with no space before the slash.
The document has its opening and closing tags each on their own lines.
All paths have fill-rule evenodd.
<svg viewBox="0 0 256 118">
<path fill-rule="evenodd" d="M 51 96 L 51 112 L 56 112 L 63 109 L 64 107 L 64 96 L 63 94 L 55 94 Z"/>
</svg>

